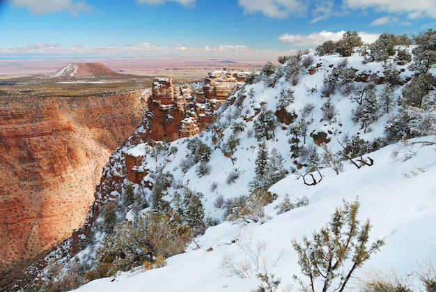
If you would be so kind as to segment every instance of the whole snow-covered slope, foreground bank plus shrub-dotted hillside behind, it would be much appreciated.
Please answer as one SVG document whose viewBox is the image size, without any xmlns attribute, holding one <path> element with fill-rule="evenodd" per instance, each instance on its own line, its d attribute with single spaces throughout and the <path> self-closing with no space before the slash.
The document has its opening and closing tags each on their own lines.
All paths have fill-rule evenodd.
<svg viewBox="0 0 436 292">
<path fill-rule="evenodd" d="M 412 47 L 405 49 L 412 51 Z M 166 260 L 168 265 L 163 268 L 147 271 L 137 268 L 132 272 L 121 272 L 116 277 L 94 280 L 78 291 L 139 291 L 144 287 L 150 291 L 251 291 L 260 284 L 256 277 L 258 272 L 279 277 L 282 288 L 279 291 L 298 291 L 299 286 L 294 282 L 293 275 L 306 283 L 307 279 L 300 272 L 297 253 L 291 241 L 301 241 L 304 235 L 310 237 L 314 230 L 319 230 L 329 221 L 330 215 L 336 207 L 341 206 L 343 200 L 351 202 L 357 197 L 360 202 L 359 220 L 365 222 L 369 218 L 373 225 L 370 242 L 377 238 L 384 238 L 385 241 L 380 252 L 373 254 L 364 268 L 357 270 L 357 276 L 364 277 L 364 273 L 372 268 L 382 272 L 392 269 L 401 274 L 416 272 L 419 265 L 436 259 L 435 146 L 420 148 L 423 145 L 421 143 L 408 145 L 412 148 L 403 146 L 396 158 L 391 156 L 393 152 L 398 153 L 396 150 L 400 146 L 395 144 L 375 153 L 360 153 L 359 156 L 368 161 L 368 157 L 371 157 L 373 165 L 357 169 L 345 161 L 343 169 L 336 169 L 338 174 L 327 164 L 318 162 L 317 165 L 311 165 L 307 157 L 302 154 L 295 157 L 298 153 L 290 151 L 293 144 L 290 141 L 293 138 L 291 128 L 299 122 L 304 122 L 306 128 L 304 131 L 300 129 L 298 146 L 315 150 L 320 156 L 326 151 L 343 151 L 341 144 L 345 145 L 345 141 L 355 136 L 371 143 L 380 138 L 374 146 L 380 148 L 387 143 L 384 125 L 392 114 L 398 112 L 394 102 L 389 113 L 378 112 L 378 118 L 366 127 L 353 122 L 358 104 L 357 91 L 345 96 L 336 89 L 329 98 L 322 96 L 325 77 L 341 66 L 354 70 L 362 78 L 373 75 L 373 80 L 377 81 L 375 94 L 381 96 L 386 69 L 381 63 L 364 63 L 364 57 L 357 53 L 349 57 L 346 63 L 338 55 L 316 56 L 311 53 L 311 56 L 314 60 L 309 69 L 313 69 L 314 74 L 309 74 L 306 68 L 299 72 L 298 82 L 295 82 L 288 75 L 293 72 L 292 64 L 288 62 L 269 77 L 255 78 L 254 82 L 246 84 L 228 98 L 228 102 L 217 110 L 214 124 L 197 137 L 157 142 L 151 146 L 152 143 L 141 140 L 143 128 L 138 128 L 132 138 L 111 156 L 104 169 L 104 180 L 97 187 L 98 199 L 95 203 L 100 204 L 100 210 L 103 211 L 88 215 L 86 223 L 93 232 L 88 233 L 89 237 L 84 242 L 91 241 L 91 244 L 86 245 L 72 261 L 90 264 L 92 268 L 93 259 L 98 255 L 105 236 L 102 215 L 105 203 L 117 204 L 118 222 L 134 221 L 134 216 L 141 213 L 144 203 L 134 202 L 122 206 L 126 186 L 132 185 L 127 179 L 129 171 L 144 174 L 141 183 L 134 184 L 135 190 L 142 196 L 142 202 L 151 204 L 153 193 L 147 187 L 156 182 L 159 174 L 168 172 L 172 175 L 173 183 L 162 197 L 164 201 L 173 206 L 175 193 L 180 186 L 187 187 L 194 193 L 203 194 L 201 201 L 205 218 L 219 220 L 221 224 L 211 226 L 203 236 L 197 236 L 195 243 L 191 243 L 185 253 L 171 256 Z M 407 64 L 396 68 L 399 84 L 393 89 L 395 95 L 400 95 L 402 84 L 407 84 L 414 72 L 407 69 Z M 435 73 L 434 70 L 430 72 Z M 368 79 L 352 81 L 352 84 L 355 88 L 363 89 Z M 288 90 L 293 91 L 293 101 L 283 105 L 281 97 L 290 92 Z M 322 109 L 327 101 L 335 108 L 334 117 L 330 119 L 326 118 L 325 109 Z M 284 109 L 289 114 L 288 118 L 295 121 L 290 124 L 279 122 L 275 118 L 279 108 Z M 274 130 L 270 128 L 270 132 L 267 131 L 270 139 L 257 139 L 258 132 L 254 130 L 256 124 L 260 123 L 259 117 L 263 114 L 266 116 L 268 112 L 274 115 Z M 326 135 L 329 141 L 327 150 L 317 146 L 313 139 L 321 134 Z M 434 137 L 422 139 L 433 141 Z M 203 174 L 198 171 L 201 162 L 194 165 L 189 162 L 193 159 L 191 152 L 194 140 L 196 143 L 201 141 L 211 149 L 207 162 L 210 169 L 203 171 Z M 226 202 L 249 195 L 249 185 L 256 177 L 261 141 L 265 142 L 269 160 L 281 156 L 282 160 L 275 160 L 275 166 L 279 167 L 281 161 L 287 171 L 286 177 L 269 189 L 277 194 L 277 199 L 265 206 L 266 215 L 259 222 L 232 224 L 224 221 L 226 209 L 218 206 L 217 200 Z M 272 153 L 274 157 L 271 157 Z M 354 158 L 355 162 L 359 156 Z M 406 156 L 410 159 L 402 159 Z M 126 169 L 126 157 L 137 158 L 135 161 L 139 161 L 139 165 Z M 306 183 L 309 184 L 306 185 L 302 175 L 312 171 L 314 166 L 319 169 L 319 172 L 313 172 L 318 183 L 312 183 L 310 176 L 306 176 Z M 306 197 L 309 205 L 277 215 L 275 207 L 287 196 L 291 201 Z M 258 255 L 253 261 L 256 252 Z M 224 266 L 229 262 L 244 266 L 244 277 L 229 275 L 232 273 L 229 273 L 229 268 L 223 268 L 223 262 Z M 348 287 L 356 287 L 357 280 L 353 278 Z M 418 285 L 417 280 L 415 284 Z M 320 282 L 316 282 L 316 285 L 319 286 Z M 416 286 L 416 290 L 420 288 Z"/>
</svg>

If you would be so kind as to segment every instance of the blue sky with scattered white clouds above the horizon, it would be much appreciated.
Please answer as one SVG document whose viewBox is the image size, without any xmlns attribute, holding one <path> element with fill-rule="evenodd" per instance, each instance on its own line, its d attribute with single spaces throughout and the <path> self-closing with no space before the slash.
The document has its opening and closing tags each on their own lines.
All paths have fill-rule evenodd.
<svg viewBox="0 0 436 292">
<path fill-rule="evenodd" d="M 435 26 L 435 0 L 0 0 L 0 58 L 265 59 Z"/>
</svg>

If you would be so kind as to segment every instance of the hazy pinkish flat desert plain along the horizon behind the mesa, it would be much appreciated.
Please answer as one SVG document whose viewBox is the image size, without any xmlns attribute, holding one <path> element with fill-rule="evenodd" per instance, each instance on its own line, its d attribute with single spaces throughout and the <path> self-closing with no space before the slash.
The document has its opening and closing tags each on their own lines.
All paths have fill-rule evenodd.
<svg viewBox="0 0 436 292">
<path fill-rule="evenodd" d="M 223 58 L 132 58 L 132 59 L 0 59 L 0 79 L 47 75 L 68 63 L 103 63 L 123 74 L 141 76 L 169 76 L 180 79 L 203 79 L 208 72 L 222 70 L 252 70 L 262 68 L 267 59 Z M 277 63 L 276 65 L 279 65 Z"/>
</svg>

